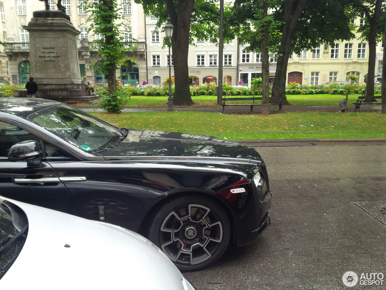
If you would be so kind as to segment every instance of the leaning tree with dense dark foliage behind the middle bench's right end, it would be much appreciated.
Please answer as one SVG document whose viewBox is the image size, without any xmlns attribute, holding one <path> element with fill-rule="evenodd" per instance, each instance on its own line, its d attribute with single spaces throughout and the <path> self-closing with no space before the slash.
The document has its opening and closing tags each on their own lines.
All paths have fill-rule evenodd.
<svg viewBox="0 0 386 290">
<path fill-rule="evenodd" d="M 325 42 L 334 43 L 335 39 L 348 40 L 354 37 L 344 10 L 350 1 L 352 0 L 278 1 L 278 9 L 273 12 L 273 19 L 282 24 L 277 27 L 281 35 L 272 89 L 273 97 L 283 97 L 288 104 L 285 88 L 288 58 L 291 53 L 300 53 L 303 49 L 312 49 Z M 260 1 L 244 0 L 244 2 L 251 2 L 257 7 Z M 250 47 L 254 50 L 260 46 L 261 43 L 257 42 Z"/>
</svg>

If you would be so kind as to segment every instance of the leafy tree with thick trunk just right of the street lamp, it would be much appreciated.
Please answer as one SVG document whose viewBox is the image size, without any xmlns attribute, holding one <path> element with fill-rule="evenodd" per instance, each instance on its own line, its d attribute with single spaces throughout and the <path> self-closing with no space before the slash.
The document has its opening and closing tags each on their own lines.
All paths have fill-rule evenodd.
<svg viewBox="0 0 386 290">
<path fill-rule="evenodd" d="M 158 18 L 157 27 L 163 28 L 166 18 L 174 26 L 171 38 L 174 64 L 173 104 L 191 105 L 189 89 L 188 49 L 197 39 L 217 39 L 219 9 L 215 0 L 134 0 L 141 3 L 147 15 Z M 229 10 L 224 9 L 225 15 Z M 224 32 L 227 38 L 227 31 Z M 228 34 L 229 35 L 229 34 Z M 164 40 L 167 44 L 167 40 Z M 222 57 L 222 56 L 219 56 Z"/>
</svg>

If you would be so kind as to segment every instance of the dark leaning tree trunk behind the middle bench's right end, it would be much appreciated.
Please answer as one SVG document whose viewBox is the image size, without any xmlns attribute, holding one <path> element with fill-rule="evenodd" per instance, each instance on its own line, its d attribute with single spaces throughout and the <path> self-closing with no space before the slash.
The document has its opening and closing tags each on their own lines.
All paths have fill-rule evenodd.
<svg viewBox="0 0 386 290">
<path fill-rule="evenodd" d="M 278 63 L 276 66 L 275 80 L 273 82 L 272 96 L 283 97 L 283 103 L 289 104 L 286 98 L 287 66 L 291 41 L 295 32 L 296 24 L 303 13 L 307 0 L 299 0 L 295 10 L 293 0 L 284 0 L 284 29 L 278 49 Z"/>
</svg>

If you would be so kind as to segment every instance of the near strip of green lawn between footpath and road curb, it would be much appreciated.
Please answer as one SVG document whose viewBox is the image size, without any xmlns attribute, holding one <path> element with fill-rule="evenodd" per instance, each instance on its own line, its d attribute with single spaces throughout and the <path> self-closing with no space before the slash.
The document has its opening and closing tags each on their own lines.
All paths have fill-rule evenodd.
<svg viewBox="0 0 386 290">
<path fill-rule="evenodd" d="M 206 112 L 90 113 L 119 127 L 227 139 L 386 138 L 386 118 L 379 112 L 288 112 L 269 116 Z"/>
</svg>

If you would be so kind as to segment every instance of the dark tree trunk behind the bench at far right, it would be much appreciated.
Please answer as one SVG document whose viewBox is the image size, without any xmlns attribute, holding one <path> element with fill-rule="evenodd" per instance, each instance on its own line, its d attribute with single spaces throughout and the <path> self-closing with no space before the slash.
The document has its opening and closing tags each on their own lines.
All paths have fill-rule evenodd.
<svg viewBox="0 0 386 290">
<path fill-rule="evenodd" d="M 369 24 L 370 24 L 369 65 L 368 65 L 367 83 L 366 83 L 367 96 L 374 95 L 374 77 L 375 77 L 374 73 L 375 73 L 375 58 L 376 58 L 376 48 L 377 48 L 376 36 L 378 34 L 378 21 L 381 15 L 381 5 L 382 5 L 382 0 L 376 0 L 375 7 L 373 10 L 374 14 L 372 15 L 372 17 L 369 14 L 368 10 L 365 9 L 367 21 L 369 21 Z M 363 100 L 363 102 L 376 102 L 376 100 L 367 99 L 367 100 Z"/>
</svg>

